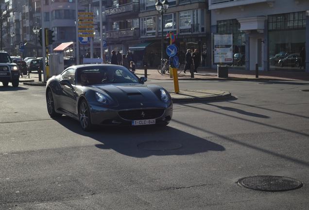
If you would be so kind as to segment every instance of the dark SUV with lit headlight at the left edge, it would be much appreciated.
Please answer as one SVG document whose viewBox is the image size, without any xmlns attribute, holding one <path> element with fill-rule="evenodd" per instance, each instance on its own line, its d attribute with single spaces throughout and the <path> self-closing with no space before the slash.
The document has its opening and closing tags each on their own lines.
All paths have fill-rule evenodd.
<svg viewBox="0 0 309 210">
<path fill-rule="evenodd" d="M 19 85 L 19 69 L 17 64 L 13 63 L 10 55 L 4 51 L 0 51 L 0 82 L 4 87 L 12 83 L 13 87 Z"/>
</svg>

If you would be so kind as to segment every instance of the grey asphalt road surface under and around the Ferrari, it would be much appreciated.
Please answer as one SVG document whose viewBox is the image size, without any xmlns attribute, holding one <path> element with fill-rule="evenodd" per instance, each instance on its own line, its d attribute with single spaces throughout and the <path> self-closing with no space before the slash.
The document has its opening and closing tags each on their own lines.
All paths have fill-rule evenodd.
<svg viewBox="0 0 309 210">
<path fill-rule="evenodd" d="M 84 132 L 77 121 L 48 116 L 44 87 L 0 87 L 0 209 L 308 209 L 309 92 L 300 90 L 309 83 L 182 81 L 180 89 L 227 90 L 234 98 L 174 104 L 163 128 Z M 145 150 L 147 141 L 181 148 Z M 237 185 L 253 175 L 304 186 Z"/>
</svg>

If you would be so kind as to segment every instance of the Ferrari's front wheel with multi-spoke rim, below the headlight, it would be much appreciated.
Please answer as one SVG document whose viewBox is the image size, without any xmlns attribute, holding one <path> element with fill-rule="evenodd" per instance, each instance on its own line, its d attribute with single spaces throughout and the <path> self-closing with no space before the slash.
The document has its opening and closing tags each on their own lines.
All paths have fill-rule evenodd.
<svg viewBox="0 0 309 210">
<path fill-rule="evenodd" d="M 81 101 L 78 107 L 78 118 L 83 130 L 92 130 L 93 126 L 91 123 L 90 109 L 85 99 Z"/>
</svg>

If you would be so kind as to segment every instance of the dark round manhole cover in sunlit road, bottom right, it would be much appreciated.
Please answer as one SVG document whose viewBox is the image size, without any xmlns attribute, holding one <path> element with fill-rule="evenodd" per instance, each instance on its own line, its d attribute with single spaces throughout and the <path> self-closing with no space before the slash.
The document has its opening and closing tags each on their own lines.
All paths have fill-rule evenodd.
<svg viewBox="0 0 309 210">
<path fill-rule="evenodd" d="M 245 188 L 271 192 L 295 190 L 303 186 L 296 179 L 270 175 L 244 177 L 238 180 L 238 184 Z"/>
</svg>

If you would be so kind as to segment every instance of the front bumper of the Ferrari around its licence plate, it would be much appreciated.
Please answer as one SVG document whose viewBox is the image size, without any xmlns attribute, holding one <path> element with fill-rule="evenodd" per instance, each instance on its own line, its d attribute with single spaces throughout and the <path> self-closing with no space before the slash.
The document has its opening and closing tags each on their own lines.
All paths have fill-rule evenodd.
<svg viewBox="0 0 309 210">
<path fill-rule="evenodd" d="M 147 116 L 145 116 L 142 120 L 155 119 L 155 124 L 168 124 L 172 119 L 172 103 L 168 107 L 147 107 L 129 110 L 112 110 L 100 106 L 90 105 L 91 123 L 96 125 L 132 125 L 132 120 L 140 120 L 141 117 L 138 115 L 136 119 L 125 119 L 120 116 L 121 111 L 134 111 L 134 113 L 137 113 L 142 110 L 151 111 L 157 109 L 164 109 L 162 115 L 158 117 L 151 116 L 151 118 L 147 118 Z"/>
</svg>

